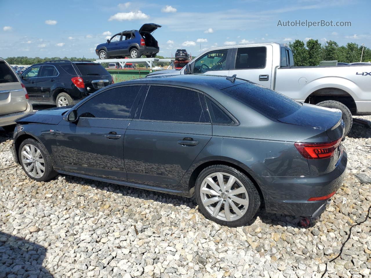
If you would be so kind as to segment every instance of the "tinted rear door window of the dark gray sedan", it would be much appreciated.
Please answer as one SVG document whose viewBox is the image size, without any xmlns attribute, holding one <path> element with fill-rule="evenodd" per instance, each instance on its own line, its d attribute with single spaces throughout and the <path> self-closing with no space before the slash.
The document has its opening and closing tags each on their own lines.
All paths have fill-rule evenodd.
<svg viewBox="0 0 371 278">
<path fill-rule="evenodd" d="M 167 86 L 150 87 L 139 118 L 169 122 L 206 122 L 197 92 Z"/>
</svg>

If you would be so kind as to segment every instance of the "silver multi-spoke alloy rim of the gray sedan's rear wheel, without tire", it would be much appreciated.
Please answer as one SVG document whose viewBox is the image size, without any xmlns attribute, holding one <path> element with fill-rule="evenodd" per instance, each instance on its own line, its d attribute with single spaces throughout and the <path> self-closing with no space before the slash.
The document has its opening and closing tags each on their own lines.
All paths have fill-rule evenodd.
<svg viewBox="0 0 371 278">
<path fill-rule="evenodd" d="M 207 176 L 201 183 L 200 195 L 206 210 L 224 221 L 240 219 L 249 207 L 249 195 L 242 182 L 223 172 Z"/>
</svg>

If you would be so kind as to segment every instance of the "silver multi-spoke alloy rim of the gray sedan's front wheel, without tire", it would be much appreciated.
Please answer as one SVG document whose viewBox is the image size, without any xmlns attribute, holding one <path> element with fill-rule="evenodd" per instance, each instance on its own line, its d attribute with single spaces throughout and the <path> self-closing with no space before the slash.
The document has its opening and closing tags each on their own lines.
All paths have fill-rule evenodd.
<svg viewBox="0 0 371 278">
<path fill-rule="evenodd" d="M 45 173 L 45 161 L 40 150 L 31 144 L 23 146 L 21 160 L 26 172 L 33 178 L 41 178 Z"/>
</svg>

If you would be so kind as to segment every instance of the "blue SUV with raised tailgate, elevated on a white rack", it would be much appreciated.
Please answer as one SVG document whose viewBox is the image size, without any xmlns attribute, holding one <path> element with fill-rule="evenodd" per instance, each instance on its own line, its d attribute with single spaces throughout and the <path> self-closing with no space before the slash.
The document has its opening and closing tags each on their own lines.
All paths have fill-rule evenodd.
<svg viewBox="0 0 371 278">
<path fill-rule="evenodd" d="M 122 31 L 115 34 L 106 43 L 98 44 L 95 53 L 99 59 L 108 58 L 147 58 L 156 57 L 160 51 L 158 42 L 152 36 L 157 28 L 161 26 L 154 23 L 146 23 L 139 30 Z"/>
</svg>

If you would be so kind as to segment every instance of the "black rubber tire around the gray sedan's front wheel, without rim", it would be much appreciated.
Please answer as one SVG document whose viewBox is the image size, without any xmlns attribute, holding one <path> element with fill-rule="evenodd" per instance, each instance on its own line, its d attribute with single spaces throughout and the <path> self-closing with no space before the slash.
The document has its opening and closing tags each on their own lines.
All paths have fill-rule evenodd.
<svg viewBox="0 0 371 278">
<path fill-rule="evenodd" d="M 45 171 L 43 173 L 43 175 L 39 178 L 35 178 L 33 176 L 31 176 L 27 171 L 26 171 L 26 168 L 22 162 L 22 148 L 24 145 L 27 145 L 27 144 L 30 144 L 30 145 L 33 145 L 35 146 L 37 149 L 40 150 L 40 153 L 42 154 L 42 158 L 44 159 L 44 168 L 45 168 Z M 23 171 L 26 173 L 27 176 L 29 176 L 30 179 L 33 179 L 35 181 L 38 181 L 38 182 L 45 182 L 45 181 L 49 181 L 50 179 L 54 178 L 56 175 L 58 175 L 58 173 L 56 171 L 53 170 L 53 166 L 52 166 L 52 160 L 50 159 L 50 156 L 49 156 L 49 153 L 47 152 L 46 148 L 40 144 L 39 142 L 37 142 L 35 139 L 26 139 L 24 140 L 20 146 L 19 146 L 19 149 L 18 149 L 18 158 L 19 158 L 19 162 L 20 162 L 20 165 L 22 166 L 23 168 Z"/>
</svg>

